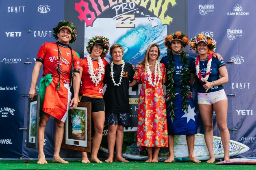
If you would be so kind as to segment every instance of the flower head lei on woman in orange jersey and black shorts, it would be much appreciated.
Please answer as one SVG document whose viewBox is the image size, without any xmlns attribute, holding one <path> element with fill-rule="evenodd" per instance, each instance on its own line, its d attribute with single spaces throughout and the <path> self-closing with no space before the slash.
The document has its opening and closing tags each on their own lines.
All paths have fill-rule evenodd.
<svg viewBox="0 0 256 170">
<path fill-rule="evenodd" d="M 87 51 L 89 54 L 91 54 L 91 51 L 93 49 L 93 46 L 95 45 L 95 43 L 100 43 L 103 46 L 103 51 L 102 54 L 100 55 L 101 57 L 106 57 L 108 50 L 109 50 L 109 40 L 108 38 L 104 37 L 104 36 L 95 36 L 92 39 L 89 39 L 88 43 L 87 43 Z"/>
</svg>

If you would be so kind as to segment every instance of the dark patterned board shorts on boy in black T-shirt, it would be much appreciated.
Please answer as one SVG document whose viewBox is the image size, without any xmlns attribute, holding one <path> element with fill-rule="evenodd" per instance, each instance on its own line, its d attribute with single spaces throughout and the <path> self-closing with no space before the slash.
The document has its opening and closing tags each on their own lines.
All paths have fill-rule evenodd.
<svg viewBox="0 0 256 170">
<path fill-rule="evenodd" d="M 106 113 L 105 125 L 130 125 L 129 113 Z"/>
</svg>

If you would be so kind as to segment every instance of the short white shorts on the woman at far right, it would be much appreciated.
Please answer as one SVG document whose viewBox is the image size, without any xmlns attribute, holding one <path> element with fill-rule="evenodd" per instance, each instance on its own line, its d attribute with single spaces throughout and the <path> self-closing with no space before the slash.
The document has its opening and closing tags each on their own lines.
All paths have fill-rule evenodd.
<svg viewBox="0 0 256 170">
<path fill-rule="evenodd" d="M 224 89 L 210 93 L 197 93 L 198 104 L 213 104 L 220 100 L 228 100 Z"/>
</svg>

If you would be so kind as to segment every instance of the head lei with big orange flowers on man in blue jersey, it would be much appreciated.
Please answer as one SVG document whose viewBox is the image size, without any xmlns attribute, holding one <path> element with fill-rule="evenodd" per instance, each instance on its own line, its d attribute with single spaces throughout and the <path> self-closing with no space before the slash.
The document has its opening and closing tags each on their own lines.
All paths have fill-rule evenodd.
<svg viewBox="0 0 256 170">
<path fill-rule="evenodd" d="M 181 31 L 176 31 L 173 34 L 165 36 L 165 47 L 171 49 L 171 42 L 173 40 L 180 40 L 184 48 L 186 48 L 186 46 L 189 45 L 189 37 L 183 34 Z"/>
</svg>

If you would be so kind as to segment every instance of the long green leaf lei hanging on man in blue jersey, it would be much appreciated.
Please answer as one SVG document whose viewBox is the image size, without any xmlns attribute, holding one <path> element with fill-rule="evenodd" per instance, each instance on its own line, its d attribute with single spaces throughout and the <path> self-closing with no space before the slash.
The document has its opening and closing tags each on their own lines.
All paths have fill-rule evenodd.
<svg viewBox="0 0 256 170">
<path fill-rule="evenodd" d="M 175 108 L 175 104 L 174 104 L 174 99 L 175 99 L 175 91 L 174 91 L 174 57 L 172 55 L 171 51 L 168 51 L 168 57 L 167 59 L 169 59 L 169 66 L 167 68 L 167 80 L 168 80 L 168 85 L 166 87 L 166 93 L 169 94 L 169 99 L 167 101 L 170 101 L 169 106 L 167 106 L 168 110 L 170 110 L 170 117 L 171 117 L 171 121 L 174 121 L 175 119 L 175 112 L 174 109 Z M 182 96 L 182 111 L 184 110 L 188 110 L 188 104 L 187 104 L 187 98 L 189 96 L 189 77 L 190 77 L 190 71 L 188 69 L 189 66 L 189 61 L 188 61 L 188 56 L 185 55 L 185 52 L 182 51 L 181 56 L 179 57 L 179 60 L 182 60 L 182 70 L 179 73 L 180 76 L 180 86 L 181 86 L 181 91 L 180 91 L 180 95 Z"/>
</svg>

